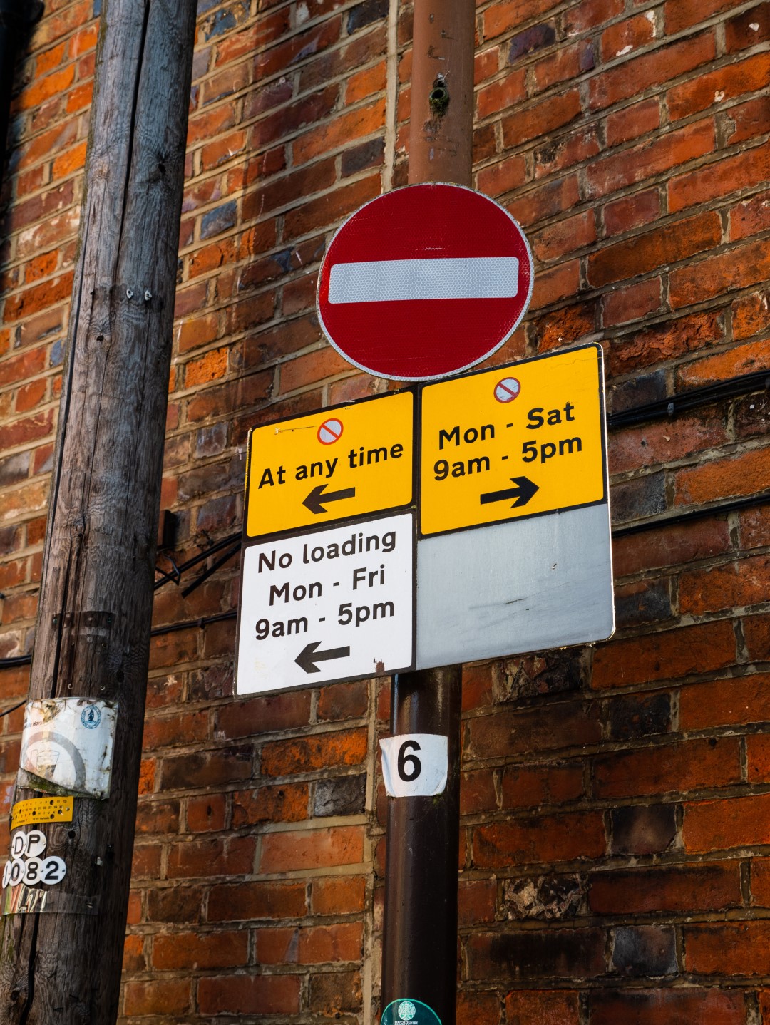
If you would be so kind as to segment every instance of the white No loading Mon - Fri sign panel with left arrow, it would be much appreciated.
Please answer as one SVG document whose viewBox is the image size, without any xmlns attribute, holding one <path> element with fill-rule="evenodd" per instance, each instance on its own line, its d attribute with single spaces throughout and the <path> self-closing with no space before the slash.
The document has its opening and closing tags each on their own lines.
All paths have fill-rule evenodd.
<svg viewBox="0 0 770 1025">
<path fill-rule="evenodd" d="M 413 557 L 409 512 L 249 545 L 238 693 L 409 668 Z"/>
</svg>

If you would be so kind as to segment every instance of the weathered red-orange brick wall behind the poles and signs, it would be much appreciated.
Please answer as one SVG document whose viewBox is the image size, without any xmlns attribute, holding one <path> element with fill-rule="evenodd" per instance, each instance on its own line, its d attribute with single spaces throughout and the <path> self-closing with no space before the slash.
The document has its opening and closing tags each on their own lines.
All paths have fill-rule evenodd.
<svg viewBox="0 0 770 1025">
<path fill-rule="evenodd" d="M 34 630 L 93 6 L 46 0 L 13 101 L 0 658 Z M 239 529 L 249 426 L 387 387 L 322 341 L 315 273 L 340 218 L 405 182 L 409 112 L 407 5 L 390 27 L 388 0 L 199 6 L 177 562 Z M 485 0 L 477 33 L 477 186 L 537 264 L 495 362 L 600 340 L 615 412 L 770 369 L 767 0 Z M 611 430 L 616 523 L 764 491 L 767 441 L 763 389 Z M 630 534 L 614 641 L 467 666 L 462 1025 L 770 1023 L 769 551 L 760 503 Z M 232 611 L 237 574 L 166 584 L 156 626 Z M 388 685 L 236 700 L 234 644 L 224 619 L 153 645 L 124 1020 L 374 1022 Z M 5 706 L 26 679 L 0 669 Z M 0 720 L 6 806 L 21 721 Z"/>
</svg>

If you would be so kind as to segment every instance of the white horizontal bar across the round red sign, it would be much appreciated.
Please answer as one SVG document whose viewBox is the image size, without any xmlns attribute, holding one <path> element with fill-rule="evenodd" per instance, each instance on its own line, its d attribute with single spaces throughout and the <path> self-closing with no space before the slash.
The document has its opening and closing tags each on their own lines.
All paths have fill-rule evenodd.
<svg viewBox="0 0 770 1025">
<path fill-rule="evenodd" d="M 329 302 L 403 299 L 505 299 L 519 291 L 516 256 L 380 259 L 335 263 Z"/>
</svg>

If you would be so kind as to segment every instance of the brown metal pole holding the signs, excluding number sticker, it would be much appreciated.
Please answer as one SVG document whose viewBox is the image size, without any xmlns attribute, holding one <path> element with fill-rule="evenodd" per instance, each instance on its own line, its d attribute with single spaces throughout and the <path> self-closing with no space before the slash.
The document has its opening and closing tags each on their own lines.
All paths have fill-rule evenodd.
<svg viewBox="0 0 770 1025">
<path fill-rule="evenodd" d="M 414 2 L 410 184 L 472 183 L 474 18 L 474 0 Z M 461 672 L 442 666 L 393 684 L 393 735 L 447 737 L 448 773 L 437 796 L 389 798 L 382 1025 L 455 1023 Z"/>
</svg>

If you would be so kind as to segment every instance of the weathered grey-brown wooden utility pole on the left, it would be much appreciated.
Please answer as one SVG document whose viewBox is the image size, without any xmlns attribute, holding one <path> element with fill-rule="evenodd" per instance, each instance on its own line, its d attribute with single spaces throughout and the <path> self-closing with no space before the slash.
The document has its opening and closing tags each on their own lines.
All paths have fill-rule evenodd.
<svg viewBox="0 0 770 1025">
<path fill-rule="evenodd" d="M 112 787 L 75 796 L 72 821 L 35 823 L 66 875 L 31 888 L 42 911 L 3 917 L 3 1023 L 118 1012 L 195 22 L 195 0 L 106 0 L 102 13 L 29 697 L 117 706 Z M 14 805 L 63 792 L 25 780 Z"/>
</svg>

